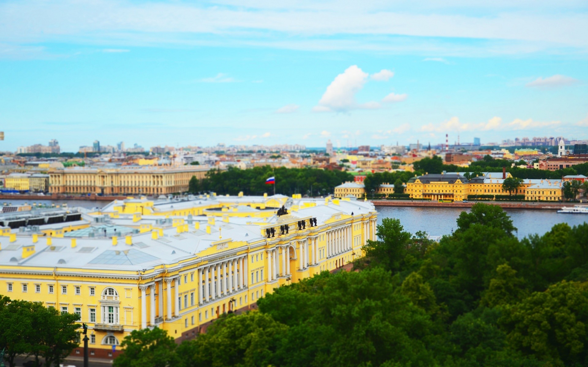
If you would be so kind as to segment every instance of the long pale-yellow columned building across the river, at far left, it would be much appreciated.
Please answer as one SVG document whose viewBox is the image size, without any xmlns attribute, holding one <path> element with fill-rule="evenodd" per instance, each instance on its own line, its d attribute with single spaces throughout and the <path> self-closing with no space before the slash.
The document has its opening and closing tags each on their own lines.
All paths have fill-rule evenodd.
<svg viewBox="0 0 588 367">
<path fill-rule="evenodd" d="M 188 191 L 192 176 L 203 179 L 202 166 L 69 167 L 49 171 L 49 192 L 68 194 L 172 194 Z"/>
</svg>

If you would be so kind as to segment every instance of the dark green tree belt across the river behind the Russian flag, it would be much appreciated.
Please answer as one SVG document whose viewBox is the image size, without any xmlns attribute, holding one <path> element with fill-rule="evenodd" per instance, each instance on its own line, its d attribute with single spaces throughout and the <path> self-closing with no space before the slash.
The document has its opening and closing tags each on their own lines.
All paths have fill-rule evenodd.
<svg viewBox="0 0 588 367">
<path fill-rule="evenodd" d="M 191 193 L 214 191 L 230 195 L 236 195 L 239 191 L 243 191 L 245 195 L 272 194 L 273 186 L 265 183 L 265 180 L 272 176 L 276 178 L 276 194 L 288 196 L 300 193 L 324 196 L 333 193 L 335 186 L 345 181 L 353 181 L 352 174 L 338 170 L 285 167 L 272 169 L 270 166 L 241 170 L 229 167 L 226 171 L 208 171 L 202 180 L 193 177 L 189 182 L 189 191 Z"/>
</svg>

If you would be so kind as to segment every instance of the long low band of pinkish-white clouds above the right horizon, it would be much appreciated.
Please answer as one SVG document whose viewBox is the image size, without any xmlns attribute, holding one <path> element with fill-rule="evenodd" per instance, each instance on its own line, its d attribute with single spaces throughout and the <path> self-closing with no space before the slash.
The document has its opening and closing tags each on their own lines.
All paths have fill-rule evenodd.
<svg viewBox="0 0 588 367">
<path fill-rule="evenodd" d="M 463 132 L 463 131 L 496 131 L 496 130 L 532 130 L 542 127 L 555 127 L 561 124 L 560 121 L 540 122 L 533 119 L 515 119 L 510 123 L 503 123 L 500 117 L 492 117 L 487 122 L 482 123 L 461 123 L 459 118 L 453 116 L 449 120 L 440 124 L 426 124 L 420 127 L 422 132 Z"/>
</svg>

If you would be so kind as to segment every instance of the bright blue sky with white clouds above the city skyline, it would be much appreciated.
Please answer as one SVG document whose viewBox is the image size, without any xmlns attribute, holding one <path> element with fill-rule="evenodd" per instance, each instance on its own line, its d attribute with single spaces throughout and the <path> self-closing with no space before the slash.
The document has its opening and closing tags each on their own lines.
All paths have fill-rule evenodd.
<svg viewBox="0 0 588 367">
<path fill-rule="evenodd" d="M 0 1 L 0 150 L 588 139 L 588 2 Z"/>
</svg>

